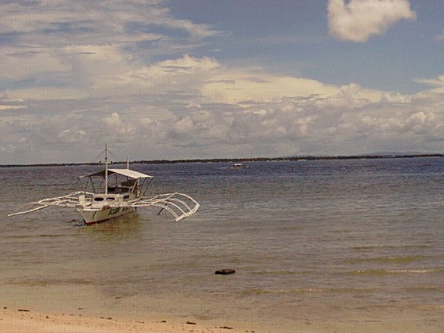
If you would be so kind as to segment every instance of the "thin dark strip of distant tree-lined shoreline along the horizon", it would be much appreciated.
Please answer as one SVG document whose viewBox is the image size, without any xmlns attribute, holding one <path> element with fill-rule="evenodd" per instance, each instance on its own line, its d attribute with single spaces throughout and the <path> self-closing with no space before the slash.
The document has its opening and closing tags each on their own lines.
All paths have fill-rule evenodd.
<svg viewBox="0 0 444 333">
<path fill-rule="evenodd" d="M 131 164 L 177 164 L 177 163 L 236 163 L 236 162 L 284 162 L 284 161 L 316 161 L 316 160 L 377 160 L 391 158 L 444 157 L 444 154 L 415 154 L 415 155 L 349 155 L 349 156 L 291 156 L 291 157 L 243 157 L 243 158 L 198 158 L 189 160 L 138 160 Z M 126 162 L 111 162 L 110 164 L 125 164 Z M 0 168 L 22 167 L 77 167 L 101 165 L 94 163 L 35 163 L 35 164 L 0 164 Z"/>
</svg>

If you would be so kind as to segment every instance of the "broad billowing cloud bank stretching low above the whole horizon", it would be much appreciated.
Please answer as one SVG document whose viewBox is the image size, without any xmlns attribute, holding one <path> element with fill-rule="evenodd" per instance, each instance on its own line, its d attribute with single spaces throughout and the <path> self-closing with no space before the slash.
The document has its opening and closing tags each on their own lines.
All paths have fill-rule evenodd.
<svg viewBox="0 0 444 333">
<path fill-rule="evenodd" d="M 65 87 L 31 87 L 3 96 L 28 105 L 1 118 L 10 158 L 26 144 L 81 151 L 85 142 L 105 139 L 125 143 L 140 158 L 362 153 L 381 151 L 387 142 L 393 149 L 430 150 L 444 135 L 444 117 L 436 112 L 444 97 L 432 91 L 325 85 L 189 55 L 147 66 L 117 46 L 68 46 L 60 54 L 76 77 L 70 94 Z M 77 98 L 66 99 L 71 96 Z M 136 150 L 136 142 L 150 142 L 150 155 Z M 50 152 L 33 159 L 62 158 Z"/>
</svg>

